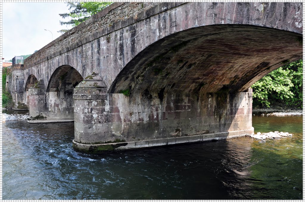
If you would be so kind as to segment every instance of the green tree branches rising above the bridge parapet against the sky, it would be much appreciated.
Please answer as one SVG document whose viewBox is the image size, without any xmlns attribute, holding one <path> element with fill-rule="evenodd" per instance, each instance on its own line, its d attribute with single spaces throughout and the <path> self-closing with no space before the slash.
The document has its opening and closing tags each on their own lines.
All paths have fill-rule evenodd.
<svg viewBox="0 0 305 202">
<path fill-rule="evenodd" d="M 77 26 L 88 19 L 90 16 L 101 11 L 102 9 L 109 6 L 112 2 L 67 2 L 70 13 L 59 14 L 63 19 L 71 17 L 72 19 L 67 22 L 60 21 L 61 25 L 72 25 Z M 63 29 L 58 32 L 66 32 Z"/>
</svg>

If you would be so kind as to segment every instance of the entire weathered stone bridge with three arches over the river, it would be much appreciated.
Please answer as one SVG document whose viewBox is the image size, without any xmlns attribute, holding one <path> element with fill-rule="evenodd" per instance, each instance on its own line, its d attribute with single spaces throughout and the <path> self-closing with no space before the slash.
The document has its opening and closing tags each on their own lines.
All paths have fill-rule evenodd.
<svg viewBox="0 0 305 202">
<path fill-rule="evenodd" d="M 249 135 L 249 87 L 302 58 L 302 7 L 113 3 L 15 65 L 9 91 L 31 123 L 74 121 L 85 152 Z"/>
</svg>

